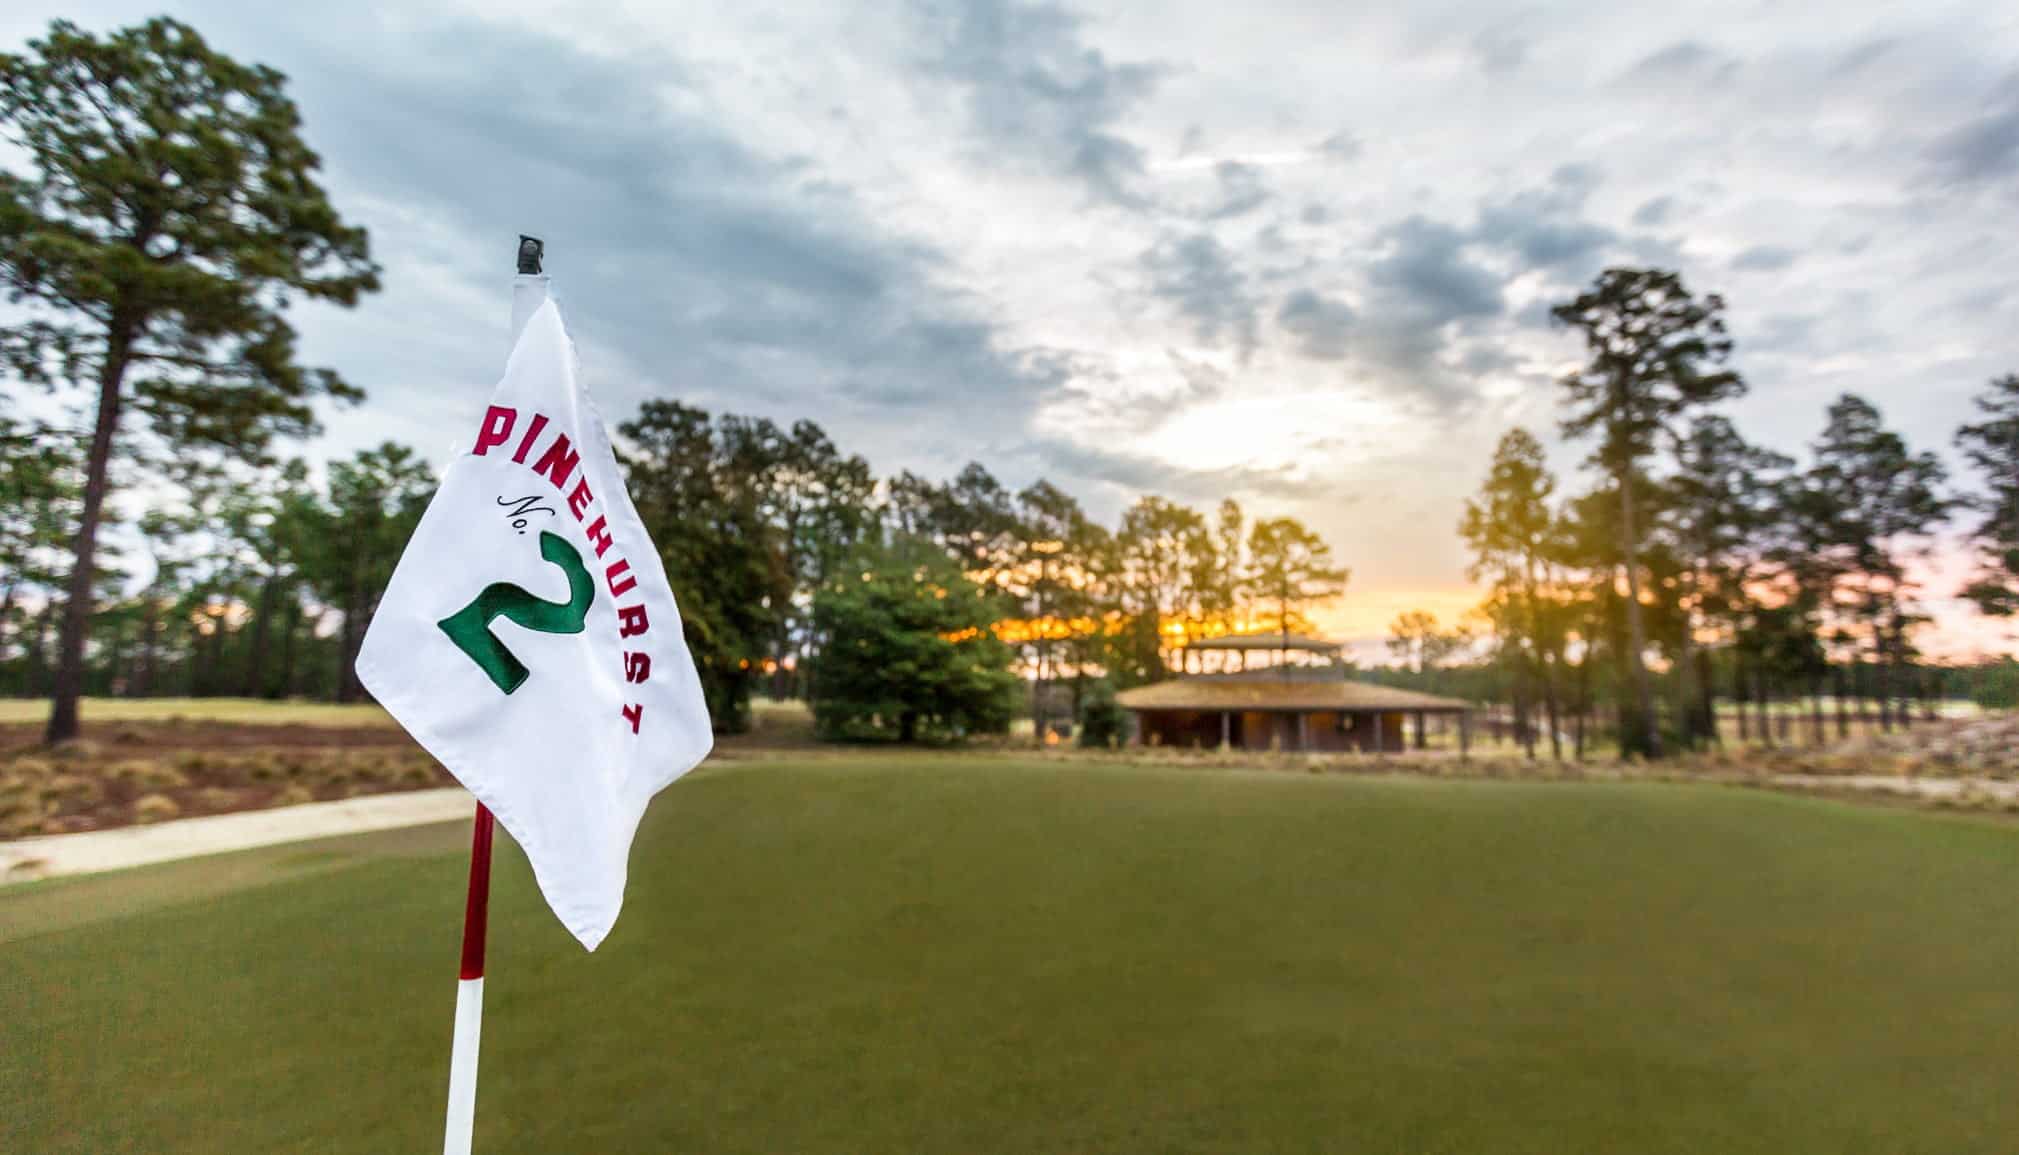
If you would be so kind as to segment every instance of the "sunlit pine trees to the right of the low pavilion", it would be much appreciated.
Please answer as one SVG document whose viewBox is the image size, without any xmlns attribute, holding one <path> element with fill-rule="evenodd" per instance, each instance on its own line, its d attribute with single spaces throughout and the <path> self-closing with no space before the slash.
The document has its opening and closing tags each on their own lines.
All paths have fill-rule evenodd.
<svg viewBox="0 0 2019 1155">
<path fill-rule="evenodd" d="M 1942 693 L 1914 644 L 1928 622 L 1916 561 L 1958 513 L 1975 511 L 1981 555 L 1962 594 L 2019 612 L 2019 376 L 1989 382 L 1981 420 L 1956 430 L 1981 470 L 1971 495 L 1851 394 L 1803 464 L 1746 440 L 1718 412 L 1746 388 L 1724 301 L 1676 273 L 1609 269 L 1553 313 L 1585 341 L 1559 402 L 1561 432 L 1589 446 L 1589 487 L 1563 493 L 1543 442 L 1514 428 L 1460 521 L 1488 588 L 1486 660 L 1553 755 L 1567 731 L 1581 755 L 1599 715 L 1625 753 L 1714 743 L 1720 699 L 1740 739 L 1775 741 L 1771 717 L 1803 703 L 1813 741 L 1847 735 L 1851 703 L 1872 703 L 1880 729 L 1910 725 L 1912 703 Z M 1417 614 L 1391 646 L 1436 668 L 1470 656 L 1464 642 Z"/>
</svg>

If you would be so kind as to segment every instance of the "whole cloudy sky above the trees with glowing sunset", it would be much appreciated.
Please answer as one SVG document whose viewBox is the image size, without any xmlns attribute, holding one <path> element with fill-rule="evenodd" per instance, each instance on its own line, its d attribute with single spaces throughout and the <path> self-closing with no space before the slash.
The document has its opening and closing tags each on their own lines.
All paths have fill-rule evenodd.
<svg viewBox="0 0 2019 1155">
<path fill-rule="evenodd" d="M 1474 602 L 1460 501 L 1506 426 L 1555 440 L 1547 305 L 1607 262 L 1724 293 L 1787 452 L 1847 390 L 1948 452 L 2019 370 L 2013 4 L 317 8 L 174 14 L 293 77 L 371 228 L 386 291 L 303 319 L 371 394 L 337 452 L 444 454 L 535 232 L 610 414 L 812 416 L 1102 517 L 1234 495 L 1326 533 L 1371 638 Z M 0 42 L 153 10 L 16 0 Z"/>
</svg>

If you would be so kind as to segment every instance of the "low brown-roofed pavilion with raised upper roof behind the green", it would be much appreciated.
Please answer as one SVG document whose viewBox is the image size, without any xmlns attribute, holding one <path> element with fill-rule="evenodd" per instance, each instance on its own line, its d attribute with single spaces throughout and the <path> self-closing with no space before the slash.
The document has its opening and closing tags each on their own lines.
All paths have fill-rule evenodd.
<svg viewBox="0 0 2019 1155">
<path fill-rule="evenodd" d="M 1117 695 L 1137 741 L 1171 747 L 1401 753 L 1427 745 L 1427 721 L 1470 739 L 1468 703 L 1347 678 L 1341 646 L 1298 634 L 1197 642 L 1240 650 L 1238 672 L 1177 676 Z"/>
</svg>

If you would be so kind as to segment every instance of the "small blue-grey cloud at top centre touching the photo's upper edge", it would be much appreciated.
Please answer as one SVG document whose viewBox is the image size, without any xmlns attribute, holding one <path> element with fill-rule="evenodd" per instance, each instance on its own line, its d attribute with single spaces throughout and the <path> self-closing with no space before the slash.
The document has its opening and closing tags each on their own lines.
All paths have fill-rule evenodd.
<svg viewBox="0 0 2019 1155">
<path fill-rule="evenodd" d="M 967 95 L 981 155 L 1066 174 L 1100 202 L 1141 208 L 1143 149 L 1117 131 L 1157 83 L 1149 65 L 1114 65 L 1056 4 L 929 0 L 931 75 Z"/>
</svg>

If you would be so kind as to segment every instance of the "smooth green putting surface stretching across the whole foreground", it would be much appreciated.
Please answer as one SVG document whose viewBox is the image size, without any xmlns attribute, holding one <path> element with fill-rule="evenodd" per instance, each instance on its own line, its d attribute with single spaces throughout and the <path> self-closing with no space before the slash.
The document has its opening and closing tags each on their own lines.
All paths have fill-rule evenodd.
<svg viewBox="0 0 2019 1155">
<path fill-rule="evenodd" d="M 1728 788 L 743 763 L 596 955 L 499 862 L 481 1151 L 1969 1153 L 2019 830 Z M 180 870 L 182 874 L 174 874 Z M 0 1151 L 426 1151 L 460 832 L 0 890 Z"/>
</svg>

